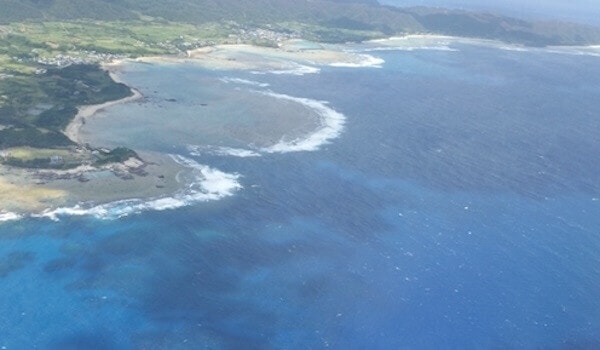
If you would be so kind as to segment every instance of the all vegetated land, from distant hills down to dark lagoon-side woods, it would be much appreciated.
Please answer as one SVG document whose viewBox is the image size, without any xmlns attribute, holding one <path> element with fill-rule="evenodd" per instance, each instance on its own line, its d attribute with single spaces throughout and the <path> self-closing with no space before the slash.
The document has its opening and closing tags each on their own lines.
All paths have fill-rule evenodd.
<svg viewBox="0 0 600 350">
<path fill-rule="evenodd" d="M 77 155 L 63 133 L 77 106 L 131 94 L 98 66 L 115 58 L 224 43 L 275 47 L 292 37 L 341 43 L 407 33 L 532 46 L 600 43 L 600 29 L 590 26 L 400 9 L 376 0 L 0 0 L 0 8 L 0 151 L 13 150 L 0 162 L 35 168 L 137 157 L 126 148 Z M 30 150 L 15 156 L 15 147 Z M 68 153 L 60 155 L 63 161 L 52 162 L 61 152 Z"/>
</svg>

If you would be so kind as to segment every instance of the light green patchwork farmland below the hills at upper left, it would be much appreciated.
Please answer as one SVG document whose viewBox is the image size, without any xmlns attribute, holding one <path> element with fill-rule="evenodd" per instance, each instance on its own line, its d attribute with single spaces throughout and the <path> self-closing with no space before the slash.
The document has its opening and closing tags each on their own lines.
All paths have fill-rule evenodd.
<svg viewBox="0 0 600 350">
<path fill-rule="evenodd" d="M 18 23 L 6 26 L 4 33 L 5 51 L 11 56 L 49 58 L 86 56 L 90 51 L 127 56 L 168 54 L 222 40 L 233 31 L 227 24 L 135 20 Z"/>
</svg>

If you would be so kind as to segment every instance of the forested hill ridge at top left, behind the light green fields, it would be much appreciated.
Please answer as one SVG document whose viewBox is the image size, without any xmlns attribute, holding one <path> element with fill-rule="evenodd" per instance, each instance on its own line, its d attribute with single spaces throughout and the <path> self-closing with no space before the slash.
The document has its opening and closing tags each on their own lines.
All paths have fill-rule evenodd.
<svg viewBox="0 0 600 350">
<path fill-rule="evenodd" d="M 349 6 L 346 6 L 349 5 Z M 219 19 L 280 20 L 379 6 L 376 0 L 0 0 L 0 20 L 116 20 L 140 15 L 200 23 Z"/>
</svg>

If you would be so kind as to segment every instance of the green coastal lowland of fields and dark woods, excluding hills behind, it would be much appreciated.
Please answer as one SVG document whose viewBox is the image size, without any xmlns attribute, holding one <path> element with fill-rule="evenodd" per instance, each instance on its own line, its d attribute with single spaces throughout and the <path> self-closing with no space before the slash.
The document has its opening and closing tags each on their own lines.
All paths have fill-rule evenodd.
<svg viewBox="0 0 600 350">
<path fill-rule="evenodd" d="M 84 160 L 67 151 L 75 145 L 63 134 L 77 114 L 77 106 L 116 100 L 131 93 L 128 87 L 112 81 L 99 62 L 182 54 L 223 43 L 276 46 L 279 38 L 286 37 L 344 42 L 383 35 L 368 29 L 331 29 L 295 22 L 263 28 L 263 36 L 255 29 L 235 22 L 186 24 L 155 19 L 1 26 L 0 150 L 10 150 L 11 157 L 0 162 L 44 167 L 53 155 L 61 156 L 69 166 Z M 96 161 L 120 161 L 131 154 L 127 149 L 116 150 Z"/>
</svg>

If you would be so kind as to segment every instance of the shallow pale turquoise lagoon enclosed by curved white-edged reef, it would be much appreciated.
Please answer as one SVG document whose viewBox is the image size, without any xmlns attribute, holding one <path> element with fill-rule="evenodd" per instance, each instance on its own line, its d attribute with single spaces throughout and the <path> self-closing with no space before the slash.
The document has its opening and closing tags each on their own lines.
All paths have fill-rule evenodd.
<svg viewBox="0 0 600 350">
<path fill-rule="evenodd" d="M 229 79 L 194 64 L 126 63 L 121 78 L 144 95 L 86 121 L 92 144 L 168 152 L 174 145 L 264 148 L 320 125 L 298 102 L 265 95 L 267 86 Z"/>
</svg>

